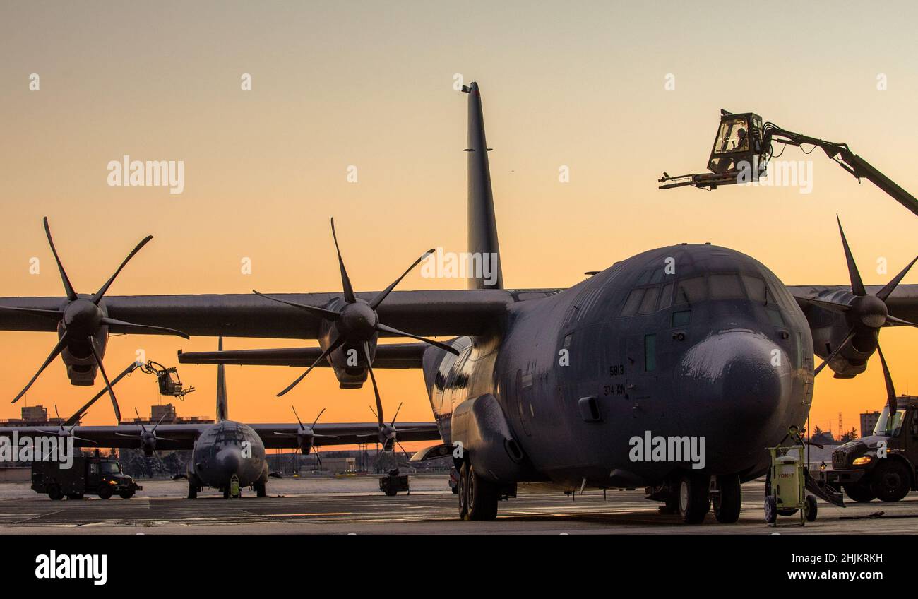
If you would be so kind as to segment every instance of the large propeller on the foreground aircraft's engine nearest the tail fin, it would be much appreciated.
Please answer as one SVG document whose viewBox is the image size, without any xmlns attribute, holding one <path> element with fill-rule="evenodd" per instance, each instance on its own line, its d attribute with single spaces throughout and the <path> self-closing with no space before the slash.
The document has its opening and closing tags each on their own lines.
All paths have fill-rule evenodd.
<svg viewBox="0 0 918 599">
<path fill-rule="evenodd" d="M 414 261 L 414 264 L 408 267 L 408 269 L 402 273 L 395 281 L 392 282 L 387 288 L 383 289 L 376 294 L 376 297 L 373 300 L 366 301 L 357 298 L 353 292 L 353 286 L 351 285 L 351 277 L 348 277 L 347 269 L 344 267 L 344 260 L 341 258 L 341 248 L 338 246 L 338 235 L 335 233 L 335 220 L 331 219 L 331 238 L 335 243 L 335 252 L 338 254 L 338 266 L 341 269 L 341 288 L 344 293 L 344 306 L 340 311 L 330 310 L 328 308 L 319 308 L 317 306 L 308 306 L 306 304 L 300 304 L 295 301 L 282 300 L 281 298 L 275 298 L 270 295 L 265 295 L 254 289 L 252 293 L 267 298 L 268 300 L 278 301 L 287 306 L 292 306 L 302 311 L 307 311 L 314 316 L 325 319 L 328 322 L 333 322 L 335 324 L 335 329 L 337 335 L 334 340 L 329 344 L 328 348 L 322 352 L 322 354 L 313 362 L 312 366 L 308 367 L 307 371 L 301 374 L 297 380 L 290 383 L 285 390 L 282 390 L 277 394 L 277 397 L 281 397 L 289 390 L 292 390 L 294 387 L 299 384 L 299 381 L 306 378 L 306 376 L 312 371 L 313 368 L 319 366 L 322 360 L 326 359 L 331 355 L 336 349 L 341 347 L 348 342 L 355 343 L 364 343 L 364 345 L 372 340 L 374 336 L 378 333 L 387 333 L 397 337 L 410 337 L 411 339 L 417 339 L 426 344 L 433 345 L 434 347 L 439 347 L 443 351 L 450 352 L 451 354 L 459 355 L 458 350 L 453 348 L 450 345 L 442 344 L 438 341 L 428 339 L 427 337 L 420 337 L 419 335 L 406 333 L 405 331 L 399 331 L 398 329 L 387 326 L 382 322 L 379 322 L 379 316 L 376 313 L 376 309 L 379 307 L 379 304 L 386 300 L 386 297 L 389 293 L 392 292 L 394 288 L 405 278 L 409 272 L 420 264 L 420 262 L 433 254 L 433 249 L 424 252 Z M 369 367 L 370 360 L 367 357 L 367 367 Z"/>
</svg>

